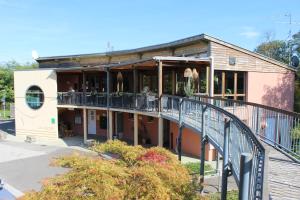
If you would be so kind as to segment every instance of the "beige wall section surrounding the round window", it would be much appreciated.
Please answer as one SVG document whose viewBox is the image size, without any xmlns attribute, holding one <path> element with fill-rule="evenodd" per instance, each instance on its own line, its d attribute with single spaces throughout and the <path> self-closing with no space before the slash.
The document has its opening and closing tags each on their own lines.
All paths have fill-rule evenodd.
<svg viewBox="0 0 300 200">
<path fill-rule="evenodd" d="M 31 109 L 25 101 L 25 93 L 32 85 L 39 86 L 45 95 L 44 104 L 38 110 Z M 14 87 L 16 135 L 24 139 L 26 136 L 35 136 L 36 139 L 57 139 L 56 72 L 53 70 L 15 71 Z"/>
</svg>

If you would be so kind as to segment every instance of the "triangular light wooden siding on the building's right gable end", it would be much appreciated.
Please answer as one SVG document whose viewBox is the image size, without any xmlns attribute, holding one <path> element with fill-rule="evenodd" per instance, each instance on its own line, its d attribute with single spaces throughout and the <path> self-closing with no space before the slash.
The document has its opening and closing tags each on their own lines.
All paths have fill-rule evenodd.
<svg viewBox="0 0 300 200">
<path fill-rule="evenodd" d="M 233 71 L 253 71 L 253 72 L 273 72 L 287 73 L 285 69 L 276 64 L 256 58 L 252 55 L 226 47 L 224 45 L 210 42 L 211 55 L 214 58 L 215 70 L 233 70 Z M 229 65 L 229 57 L 236 58 L 235 65 Z"/>
</svg>

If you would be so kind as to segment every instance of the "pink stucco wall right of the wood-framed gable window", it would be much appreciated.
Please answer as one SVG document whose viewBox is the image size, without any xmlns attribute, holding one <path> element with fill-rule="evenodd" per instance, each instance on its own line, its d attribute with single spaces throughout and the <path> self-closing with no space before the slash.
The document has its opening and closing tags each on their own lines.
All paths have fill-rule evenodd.
<svg viewBox="0 0 300 200">
<path fill-rule="evenodd" d="M 294 73 L 248 72 L 247 101 L 293 110 Z"/>
</svg>

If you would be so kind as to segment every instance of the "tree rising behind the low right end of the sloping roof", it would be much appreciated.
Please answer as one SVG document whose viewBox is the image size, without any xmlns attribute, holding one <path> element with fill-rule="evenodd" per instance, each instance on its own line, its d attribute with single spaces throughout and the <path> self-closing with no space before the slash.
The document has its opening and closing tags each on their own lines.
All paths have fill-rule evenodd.
<svg viewBox="0 0 300 200">
<path fill-rule="evenodd" d="M 264 42 L 254 51 L 283 63 L 289 62 L 289 45 L 283 40 Z"/>
</svg>

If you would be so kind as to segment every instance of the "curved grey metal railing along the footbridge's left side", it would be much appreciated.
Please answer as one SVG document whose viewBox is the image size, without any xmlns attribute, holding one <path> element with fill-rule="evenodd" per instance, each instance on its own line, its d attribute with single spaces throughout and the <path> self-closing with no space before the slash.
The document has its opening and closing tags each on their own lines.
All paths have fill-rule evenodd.
<svg viewBox="0 0 300 200">
<path fill-rule="evenodd" d="M 266 173 L 265 148 L 252 130 L 232 113 L 195 99 L 163 95 L 161 98 L 164 118 L 182 123 L 199 134 L 207 137 L 209 142 L 224 156 L 225 131 L 228 131 L 228 157 L 231 171 L 237 184 L 240 184 L 241 155 L 252 155 L 249 199 L 263 199 Z M 180 114 L 181 115 L 180 115 Z M 228 123 L 229 122 L 229 123 Z M 224 161 L 225 162 L 225 161 Z"/>
</svg>

